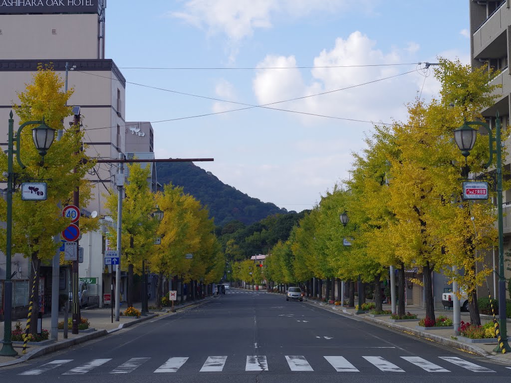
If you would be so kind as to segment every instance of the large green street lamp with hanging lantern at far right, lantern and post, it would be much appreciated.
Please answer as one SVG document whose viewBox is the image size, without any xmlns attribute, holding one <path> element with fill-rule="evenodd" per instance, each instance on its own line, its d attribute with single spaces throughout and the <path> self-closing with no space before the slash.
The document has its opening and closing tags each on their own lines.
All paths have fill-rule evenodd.
<svg viewBox="0 0 511 383">
<path fill-rule="evenodd" d="M 491 166 L 493 160 L 493 154 L 497 155 L 497 165 L 495 167 L 495 173 L 497 174 L 497 222 L 499 229 L 499 328 L 501 342 L 500 346 L 495 348 L 495 351 L 511 351 L 507 343 L 506 335 L 506 281 L 504 279 L 504 231 L 503 231 L 503 220 L 502 220 L 502 146 L 501 146 L 501 134 L 500 134 L 500 119 L 499 114 L 496 116 L 495 126 L 495 138 L 492 135 L 492 129 L 486 123 L 480 121 L 467 122 L 464 121 L 463 125 L 454 130 L 454 140 L 461 154 L 467 158 L 470 151 L 474 147 L 476 142 L 477 131 L 472 129 L 471 125 L 479 125 L 484 127 L 489 133 L 490 140 L 490 160 L 484 165 L 487 169 Z M 496 145 L 493 149 L 493 141 L 495 140 Z M 495 272 L 495 271 L 494 271 Z"/>
</svg>

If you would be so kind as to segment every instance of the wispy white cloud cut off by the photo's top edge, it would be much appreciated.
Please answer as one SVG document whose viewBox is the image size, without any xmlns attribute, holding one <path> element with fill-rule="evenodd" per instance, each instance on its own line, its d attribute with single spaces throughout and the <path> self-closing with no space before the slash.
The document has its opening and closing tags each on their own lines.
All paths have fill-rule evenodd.
<svg viewBox="0 0 511 383">
<path fill-rule="evenodd" d="M 369 12 L 371 0 L 189 0 L 178 12 L 166 16 L 178 18 L 209 35 L 225 35 L 230 60 L 239 43 L 255 30 L 272 28 L 275 20 L 299 19 L 316 12 L 332 14 L 349 8 Z"/>
</svg>

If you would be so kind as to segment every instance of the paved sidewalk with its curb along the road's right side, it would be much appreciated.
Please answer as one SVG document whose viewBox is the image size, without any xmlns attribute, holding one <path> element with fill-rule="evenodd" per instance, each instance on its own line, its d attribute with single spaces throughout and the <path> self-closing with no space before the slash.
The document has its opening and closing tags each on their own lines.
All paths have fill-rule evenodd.
<svg viewBox="0 0 511 383">
<path fill-rule="evenodd" d="M 341 307 L 341 306 L 335 306 L 333 304 L 327 304 L 325 302 L 318 302 L 316 300 L 309 300 L 305 299 L 309 304 L 321 307 L 326 310 L 330 310 L 331 312 L 334 312 L 339 315 L 348 315 L 356 317 L 357 319 L 364 320 L 366 322 L 372 322 L 377 323 L 379 325 L 391 327 L 394 329 L 397 329 L 399 331 L 406 332 L 407 334 L 412 334 L 416 337 L 424 338 L 428 341 L 440 343 L 442 345 L 457 348 L 459 350 L 472 352 L 477 355 L 485 356 L 487 358 L 491 358 L 493 360 L 508 363 L 511 365 L 511 352 L 501 354 L 496 353 L 493 350 L 497 346 L 497 343 L 468 343 L 464 342 L 462 340 L 462 337 L 455 336 L 453 329 L 442 329 L 441 327 L 436 327 L 435 329 L 428 329 L 428 330 L 422 330 L 417 329 L 416 326 L 419 325 L 419 320 L 412 320 L 412 321 L 405 321 L 405 322 L 399 322 L 395 323 L 392 322 L 390 319 L 390 315 L 383 315 L 383 316 L 371 316 L 369 314 L 355 314 L 356 310 L 353 307 Z M 383 309 L 384 310 L 390 310 L 389 304 L 384 304 Z M 411 314 L 417 314 L 419 319 L 422 319 L 426 316 L 426 309 L 423 307 L 418 306 L 407 306 L 406 311 L 410 312 Z M 435 310 L 435 316 L 438 315 L 444 315 L 447 318 L 452 319 L 453 312 L 452 310 L 442 310 L 437 309 Z M 461 320 L 464 322 L 470 322 L 470 314 L 461 312 Z M 486 322 L 491 322 L 492 317 L 487 315 L 481 315 L 481 324 L 484 324 Z M 511 321 L 508 319 L 507 323 L 511 323 Z M 511 324 L 508 325 L 511 329 Z M 509 339 L 509 338 L 508 338 Z"/>
</svg>

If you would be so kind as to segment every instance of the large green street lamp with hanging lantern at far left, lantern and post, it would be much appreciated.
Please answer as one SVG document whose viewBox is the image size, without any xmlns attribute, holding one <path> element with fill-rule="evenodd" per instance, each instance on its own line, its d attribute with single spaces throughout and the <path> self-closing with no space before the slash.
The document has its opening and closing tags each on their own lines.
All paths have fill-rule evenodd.
<svg viewBox="0 0 511 383">
<path fill-rule="evenodd" d="M 32 129 L 32 138 L 34 145 L 39 151 L 39 154 L 44 158 L 44 155 L 50 149 L 53 139 L 55 137 L 55 129 L 50 128 L 42 121 L 29 121 L 22 124 L 18 128 L 16 138 L 14 138 L 14 119 L 12 111 L 9 113 L 9 143 L 7 150 L 7 219 L 6 219 L 6 268 L 5 268 L 5 284 L 4 284 L 4 341 L 0 356 L 15 356 L 18 353 L 12 347 L 11 342 L 11 312 L 12 312 L 12 281 L 11 281 L 11 257 L 12 257 L 12 193 L 14 189 L 14 172 L 13 172 L 13 157 L 16 154 L 16 159 L 22 169 L 25 165 L 21 162 L 19 151 L 21 149 L 21 130 L 28 125 L 39 125 L 37 128 Z M 14 150 L 14 140 L 16 141 L 16 150 Z"/>
</svg>

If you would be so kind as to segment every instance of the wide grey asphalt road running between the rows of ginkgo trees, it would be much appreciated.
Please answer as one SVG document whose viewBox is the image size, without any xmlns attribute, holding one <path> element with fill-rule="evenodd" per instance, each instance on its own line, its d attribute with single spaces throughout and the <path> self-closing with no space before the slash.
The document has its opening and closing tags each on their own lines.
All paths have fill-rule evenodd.
<svg viewBox="0 0 511 383">
<path fill-rule="evenodd" d="M 282 295 L 232 289 L 174 316 L 0 370 L 2 382 L 508 381 L 477 355 Z"/>
</svg>

